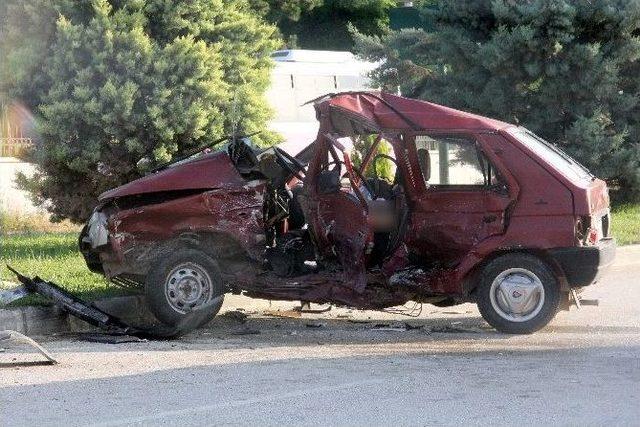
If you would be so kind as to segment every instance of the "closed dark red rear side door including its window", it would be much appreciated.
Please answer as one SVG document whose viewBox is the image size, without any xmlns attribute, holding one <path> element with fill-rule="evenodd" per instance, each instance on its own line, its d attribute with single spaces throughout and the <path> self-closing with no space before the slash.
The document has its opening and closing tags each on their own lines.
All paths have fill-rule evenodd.
<svg viewBox="0 0 640 427">
<path fill-rule="evenodd" d="M 417 177 L 405 242 L 424 261 L 456 263 L 478 243 L 505 231 L 511 199 L 500 172 L 472 134 L 407 138 Z"/>
</svg>

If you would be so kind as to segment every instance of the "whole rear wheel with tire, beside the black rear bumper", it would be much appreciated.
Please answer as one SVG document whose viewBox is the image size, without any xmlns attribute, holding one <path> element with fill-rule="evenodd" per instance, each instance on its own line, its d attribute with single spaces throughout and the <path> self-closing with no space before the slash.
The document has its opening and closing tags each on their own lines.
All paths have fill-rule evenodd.
<svg viewBox="0 0 640 427">
<path fill-rule="evenodd" d="M 500 332 L 530 334 L 545 327 L 560 306 L 553 270 L 529 254 L 506 254 L 482 270 L 476 300 L 482 317 Z"/>
</svg>

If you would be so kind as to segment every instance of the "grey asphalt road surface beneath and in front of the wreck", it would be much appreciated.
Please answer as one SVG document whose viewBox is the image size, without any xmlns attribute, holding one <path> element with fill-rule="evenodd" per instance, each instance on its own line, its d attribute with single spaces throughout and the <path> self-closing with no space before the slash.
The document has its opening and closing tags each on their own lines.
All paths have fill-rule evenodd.
<svg viewBox="0 0 640 427">
<path fill-rule="evenodd" d="M 638 425 L 639 277 L 640 248 L 585 291 L 599 307 L 530 336 L 496 333 L 468 304 L 282 319 L 236 298 L 225 307 L 245 304 L 244 323 L 178 341 L 40 337 L 59 365 L 0 352 L 0 425 Z"/>
</svg>

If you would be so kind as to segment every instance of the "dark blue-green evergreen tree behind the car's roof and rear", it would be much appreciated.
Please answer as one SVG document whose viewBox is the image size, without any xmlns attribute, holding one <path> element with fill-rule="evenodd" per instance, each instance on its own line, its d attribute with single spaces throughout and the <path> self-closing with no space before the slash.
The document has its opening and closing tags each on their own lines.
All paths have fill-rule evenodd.
<svg viewBox="0 0 640 427">
<path fill-rule="evenodd" d="M 640 195 L 640 3 L 439 0 L 433 32 L 356 34 L 403 94 L 526 126 L 620 189 Z"/>
</svg>

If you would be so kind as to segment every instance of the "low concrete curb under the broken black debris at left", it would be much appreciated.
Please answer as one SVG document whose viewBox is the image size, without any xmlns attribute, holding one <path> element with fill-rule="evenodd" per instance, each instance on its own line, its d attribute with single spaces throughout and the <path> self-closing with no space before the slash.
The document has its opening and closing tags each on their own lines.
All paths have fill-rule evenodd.
<svg viewBox="0 0 640 427">
<path fill-rule="evenodd" d="M 141 296 L 113 297 L 93 304 L 125 323 L 152 322 L 153 316 Z M 98 328 L 71 316 L 56 306 L 17 307 L 0 309 L 0 330 L 13 330 L 25 335 L 45 335 L 64 332 L 92 332 Z"/>
</svg>

